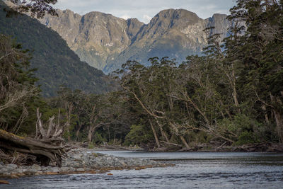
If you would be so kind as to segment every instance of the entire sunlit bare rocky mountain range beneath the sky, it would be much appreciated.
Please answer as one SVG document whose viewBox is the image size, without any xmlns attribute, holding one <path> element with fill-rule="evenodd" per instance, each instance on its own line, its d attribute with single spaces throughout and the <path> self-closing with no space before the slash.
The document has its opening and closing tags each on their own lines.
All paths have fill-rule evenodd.
<svg viewBox="0 0 283 189">
<path fill-rule="evenodd" d="M 57 31 L 81 60 L 109 73 L 127 60 L 148 64 L 150 57 L 170 57 L 183 62 L 187 55 L 200 55 L 207 45 L 205 28 L 226 37 L 231 25 L 224 14 L 202 19 L 184 9 L 159 12 L 149 24 L 137 18 L 122 19 L 106 13 L 79 15 L 70 10 L 57 10 L 40 22 Z"/>
</svg>

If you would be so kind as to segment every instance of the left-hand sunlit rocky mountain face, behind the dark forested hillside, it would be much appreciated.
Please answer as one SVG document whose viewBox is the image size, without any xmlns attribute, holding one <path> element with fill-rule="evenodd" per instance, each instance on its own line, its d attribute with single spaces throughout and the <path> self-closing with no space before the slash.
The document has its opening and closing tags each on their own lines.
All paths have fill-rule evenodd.
<svg viewBox="0 0 283 189">
<path fill-rule="evenodd" d="M 141 25 L 100 12 L 79 16 L 69 10 L 58 10 L 58 15 L 47 15 L 40 22 L 57 31 L 82 61 L 98 69 L 103 69 L 108 59 L 114 59 L 130 45 L 130 38 Z"/>
</svg>

